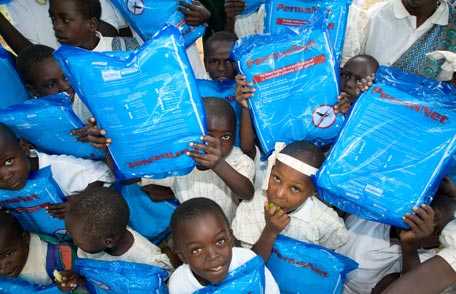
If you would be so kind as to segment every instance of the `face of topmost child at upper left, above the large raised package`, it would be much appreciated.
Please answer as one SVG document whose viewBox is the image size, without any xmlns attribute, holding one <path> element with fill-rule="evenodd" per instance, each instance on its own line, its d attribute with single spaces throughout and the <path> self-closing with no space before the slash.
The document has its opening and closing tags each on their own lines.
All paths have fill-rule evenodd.
<svg viewBox="0 0 456 294">
<path fill-rule="evenodd" d="M 95 36 L 96 20 L 84 17 L 75 1 L 50 1 L 49 16 L 59 43 L 86 48 Z"/>
</svg>

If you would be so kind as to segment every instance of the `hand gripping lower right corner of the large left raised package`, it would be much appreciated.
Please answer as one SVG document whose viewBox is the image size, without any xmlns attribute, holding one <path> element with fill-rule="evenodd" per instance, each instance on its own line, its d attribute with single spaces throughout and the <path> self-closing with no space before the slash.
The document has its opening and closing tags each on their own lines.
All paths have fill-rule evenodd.
<svg viewBox="0 0 456 294">
<path fill-rule="evenodd" d="M 222 143 L 219 139 L 211 136 L 204 136 L 202 140 L 206 144 L 190 143 L 193 150 L 189 151 L 187 155 L 193 158 L 197 165 L 214 169 L 223 160 Z"/>
</svg>

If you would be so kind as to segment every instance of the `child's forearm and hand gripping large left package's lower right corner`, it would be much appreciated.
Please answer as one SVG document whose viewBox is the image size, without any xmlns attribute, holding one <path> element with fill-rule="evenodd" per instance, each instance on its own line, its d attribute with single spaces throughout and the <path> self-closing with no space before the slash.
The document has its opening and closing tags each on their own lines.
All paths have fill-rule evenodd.
<svg viewBox="0 0 456 294">
<path fill-rule="evenodd" d="M 219 139 L 204 136 L 206 144 L 192 143 L 192 151 L 188 152 L 198 165 L 212 169 L 231 189 L 231 191 L 243 200 L 250 200 L 254 194 L 252 182 L 238 173 L 222 157 L 221 143 Z M 203 154 L 200 152 L 203 151 Z"/>
</svg>

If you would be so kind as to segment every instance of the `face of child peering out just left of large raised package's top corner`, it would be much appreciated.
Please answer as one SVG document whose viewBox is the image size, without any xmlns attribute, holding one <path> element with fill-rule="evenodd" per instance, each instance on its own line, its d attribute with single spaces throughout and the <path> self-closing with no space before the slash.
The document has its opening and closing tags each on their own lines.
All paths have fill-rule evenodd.
<svg viewBox="0 0 456 294">
<path fill-rule="evenodd" d="M 44 97 L 66 92 L 71 99 L 74 98 L 74 90 L 54 58 L 35 64 L 30 70 L 33 83 L 28 86 L 34 96 Z"/>
</svg>

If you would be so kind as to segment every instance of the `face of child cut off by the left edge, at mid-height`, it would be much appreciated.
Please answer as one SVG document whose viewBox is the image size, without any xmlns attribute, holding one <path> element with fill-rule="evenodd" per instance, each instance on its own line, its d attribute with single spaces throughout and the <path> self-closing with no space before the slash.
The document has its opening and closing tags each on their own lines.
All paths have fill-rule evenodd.
<svg viewBox="0 0 456 294">
<path fill-rule="evenodd" d="M 19 142 L 0 142 L 0 189 L 20 190 L 27 183 L 30 161 Z"/>
</svg>

